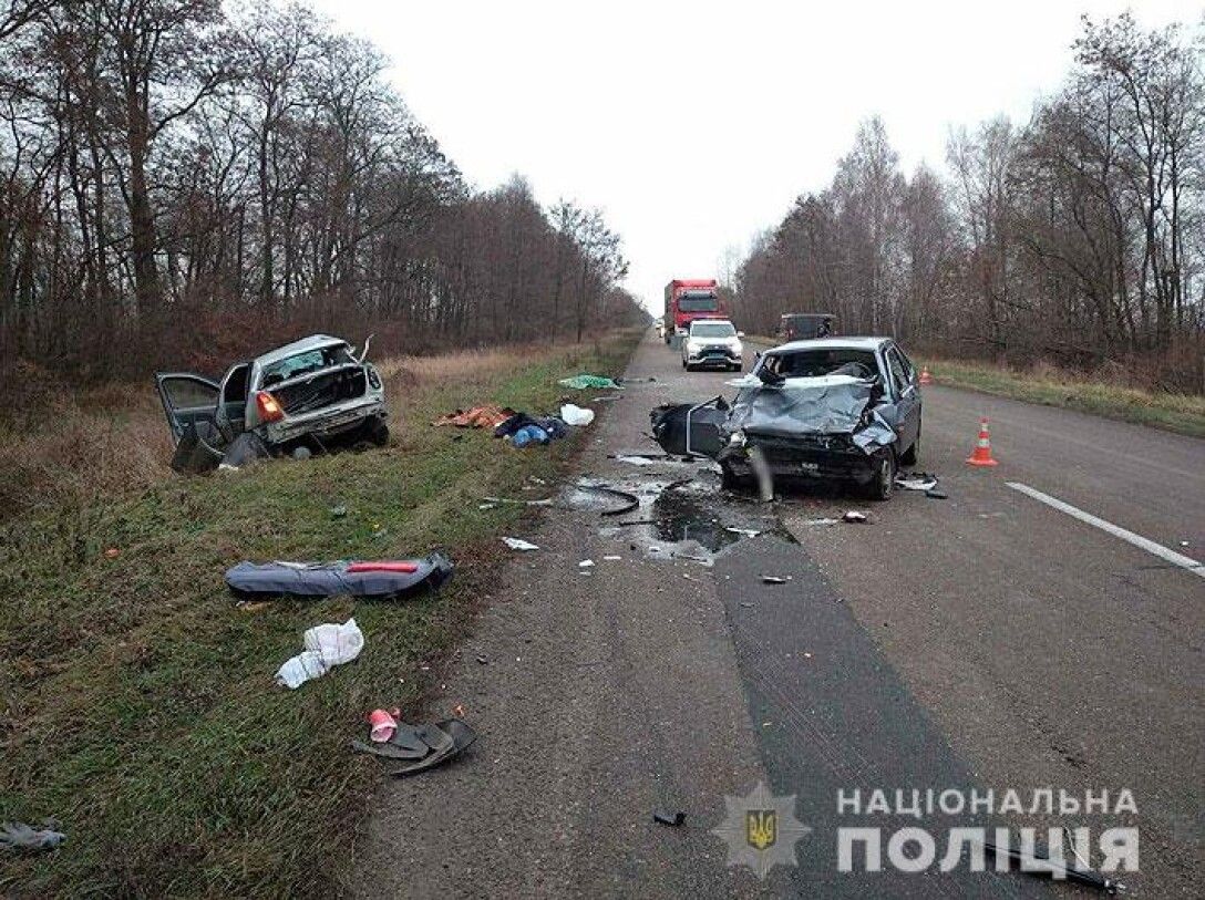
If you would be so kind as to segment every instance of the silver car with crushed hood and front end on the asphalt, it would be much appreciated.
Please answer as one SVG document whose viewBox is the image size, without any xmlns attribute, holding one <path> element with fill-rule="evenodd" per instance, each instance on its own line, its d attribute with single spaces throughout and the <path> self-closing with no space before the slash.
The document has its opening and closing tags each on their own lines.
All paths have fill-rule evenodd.
<svg viewBox="0 0 1205 900">
<path fill-rule="evenodd" d="M 728 384 L 737 389 L 730 402 L 651 413 L 663 449 L 716 459 L 725 487 L 751 483 L 762 469 L 776 480 L 847 482 L 887 500 L 898 467 L 917 461 L 921 386 L 888 337 L 786 343 Z"/>
</svg>

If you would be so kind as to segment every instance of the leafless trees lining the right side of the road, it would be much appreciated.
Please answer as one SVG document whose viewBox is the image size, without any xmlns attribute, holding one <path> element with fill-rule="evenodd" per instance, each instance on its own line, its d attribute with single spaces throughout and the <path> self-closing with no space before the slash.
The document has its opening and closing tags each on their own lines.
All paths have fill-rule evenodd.
<svg viewBox="0 0 1205 900">
<path fill-rule="evenodd" d="M 735 270 L 742 324 L 834 312 L 846 333 L 1200 392 L 1203 48 L 1205 24 L 1084 20 L 1062 88 L 1028 124 L 952 131 L 945 173 L 906 176 L 869 119 Z"/>
</svg>

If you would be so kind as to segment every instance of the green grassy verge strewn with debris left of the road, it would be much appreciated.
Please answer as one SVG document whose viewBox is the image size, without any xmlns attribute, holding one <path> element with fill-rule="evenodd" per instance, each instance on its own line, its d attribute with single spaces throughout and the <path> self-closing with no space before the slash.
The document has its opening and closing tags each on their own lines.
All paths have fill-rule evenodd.
<svg viewBox="0 0 1205 900">
<path fill-rule="evenodd" d="M 617 373 L 636 335 L 560 351 L 383 365 L 386 451 L 170 477 L 41 508 L 0 546 L 0 820 L 57 817 L 67 843 L 5 860 L 5 895 L 329 895 L 378 767 L 347 741 L 365 711 L 413 713 L 424 660 L 446 652 L 521 514 L 486 493 L 553 478 L 580 440 L 515 451 L 435 429 L 482 401 L 552 408 L 556 381 Z M 347 507 L 346 518 L 330 508 Z M 447 547 L 457 575 L 405 604 L 235 606 L 240 559 L 411 555 Z M 116 558 L 105 551 L 116 548 Z M 288 692 L 272 673 L 301 633 L 354 616 L 352 664 Z M 439 712 L 439 711 L 436 711 Z M 446 711 L 445 711 L 446 712 Z M 472 711 L 466 711 L 472 718 Z"/>
</svg>

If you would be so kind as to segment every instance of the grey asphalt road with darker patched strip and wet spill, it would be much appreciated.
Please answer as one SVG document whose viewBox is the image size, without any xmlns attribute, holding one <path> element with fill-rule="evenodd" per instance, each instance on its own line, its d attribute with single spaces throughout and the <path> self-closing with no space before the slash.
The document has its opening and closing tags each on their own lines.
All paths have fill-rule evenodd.
<svg viewBox="0 0 1205 900">
<path fill-rule="evenodd" d="M 654 339 L 628 375 L 656 381 L 610 401 L 581 470 L 639 492 L 641 508 L 549 510 L 516 535 L 540 549 L 516 555 L 441 678 L 440 708 L 463 704 L 481 737 L 457 763 L 383 787 L 347 893 L 1080 893 L 936 863 L 894 871 L 897 829 L 931 830 L 940 859 L 946 829 L 984 820 L 839 814 L 836 804 L 841 790 L 974 787 L 1015 789 L 1027 806 L 1035 789 L 1128 789 L 1138 814 L 991 824 L 1083 825 L 1093 840 L 1136 825 L 1141 871 L 1122 876 L 1131 892 L 1200 895 L 1205 578 L 1009 482 L 1201 559 L 1205 443 L 930 388 L 918 467 L 950 499 L 901 492 L 868 505 L 823 492 L 766 507 L 721 499 L 698 466 L 612 459 L 658 449 L 642 436 L 658 404 L 730 390 L 729 376 L 683 372 Z M 575 399 L 607 405 L 593 396 Z M 980 414 L 992 419 L 993 470 L 963 463 Z M 847 508 L 871 523 L 812 524 Z M 725 527 L 764 533 L 736 540 Z M 580 567 L 586 559 L 594 565 Z M 764 881 L 728 865 L 711 833 L 724 798 L 759 782 L 794 795 L 811 829 L 798 865 Z M 657 810 L 686 820 L 657 824 Z M 837 871 L 840 827 L 883 829 L 884 871 Z"/>
</svg>

